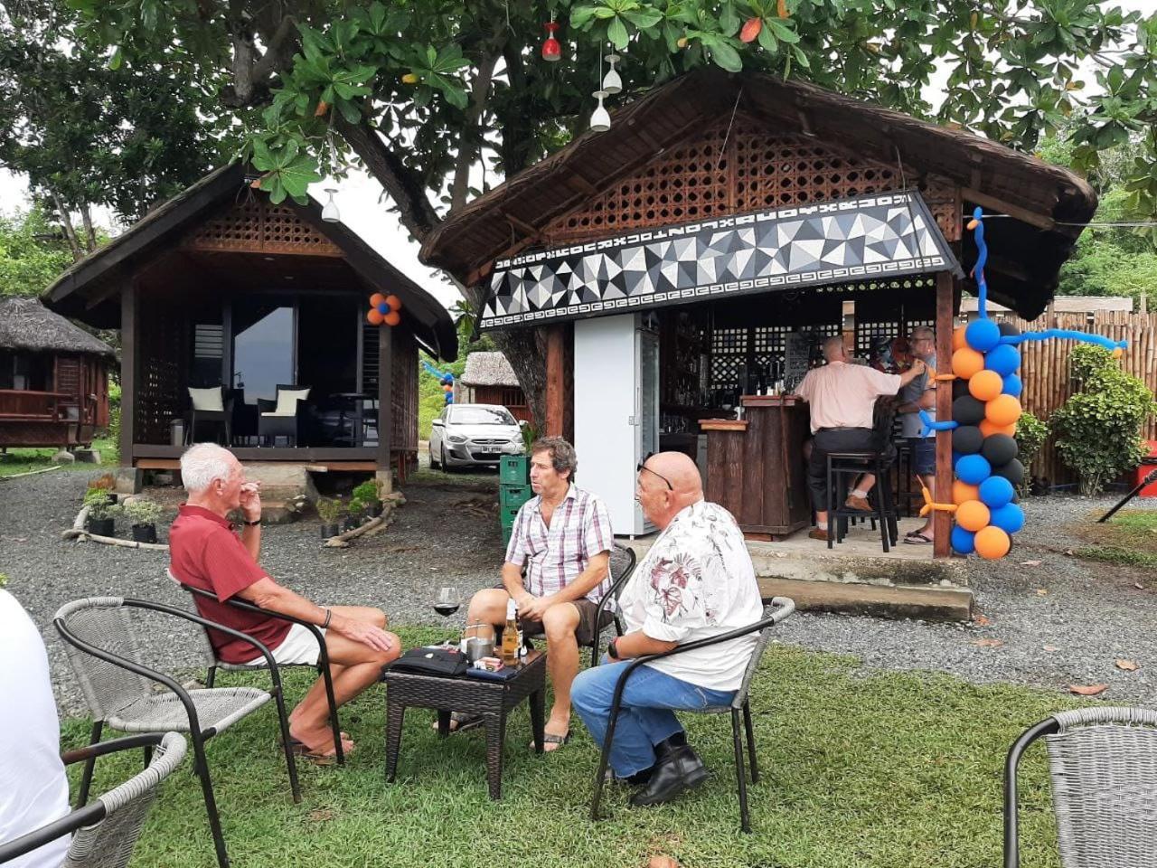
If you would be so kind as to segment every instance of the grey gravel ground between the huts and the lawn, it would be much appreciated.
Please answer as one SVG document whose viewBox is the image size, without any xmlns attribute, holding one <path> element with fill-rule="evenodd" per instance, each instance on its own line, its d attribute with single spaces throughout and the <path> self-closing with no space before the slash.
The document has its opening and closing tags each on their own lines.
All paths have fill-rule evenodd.
<svg viewBox="0 0 1157 868">
<path fill-rule="evenodd" d="M 167 554 L 65 542 L 87 475 L 58 472 L 0 481 L 0 572 L 40 625 L 57 696 L 81 709 L 79 691 L 51 626 L 65 602 L 111 594 L 185 605 L 164 578 Z M 263 562 L 280 581 L 324 602 L 376 604 L 396 624 L 448 624 L 432 609 L 437 588 L 455 584 L 463 599 L 493 584 L 502 559 L 496 479 L 423 475 L 406 488 L 408 502 L 376 537 L 346 550 L 318 545 L 316 518 L 267 528 Z M 169 496 L 176 501 L 178 492 Z M 1012 682 L 1063 690 L 1108 684 L 1104 699 L 1157 704 L 1157 575 L 1090 564 L 1064 554 L 1082 543 L 1066 524 L 1092 521 L 1115 498 L 1033 498 L 1029 525 L 1001 561 L 970 561 L 979 610 L 988 623 L 926 624 L 861 616 L 797 615 L 780 640 L 860 656 L 869 669 L 942 670 L 970 682 Z M 1157 508 L 1152 501 L 1134 501 Z M 1024 561 L 1039 561 L 1025 564 Z M 1138 587 L 1140 586 L 1140 587 Z M 465 606 L 455 618 L 464 620 Z M 160 667 L 197 664 L 197 645 L 178 621 L 149 632 Z M 979 640 L 998 640 L 977 645 Z M 1114 661 L 1138 664 L 1122 671 Z"/>
</svg>

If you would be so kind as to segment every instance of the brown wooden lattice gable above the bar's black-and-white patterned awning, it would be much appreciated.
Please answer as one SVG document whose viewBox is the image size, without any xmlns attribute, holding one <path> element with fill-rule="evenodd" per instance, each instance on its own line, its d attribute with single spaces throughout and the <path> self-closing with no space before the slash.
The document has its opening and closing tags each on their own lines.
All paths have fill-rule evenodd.
<svg viewBox="0 0 1157 868">
<path fill-rule="evenodd" d="M 606 237 L 641 227 L 693 222 L 808 203 L 898 190 L 915 181 L 899 168 L 806 135 L 768 133 L 737 117 L 677 145 L 544 230 L 547 247 Z M 960 237 L 957 190 L 931 177 L 922 191 L 949 241 Z"/>
</svg>

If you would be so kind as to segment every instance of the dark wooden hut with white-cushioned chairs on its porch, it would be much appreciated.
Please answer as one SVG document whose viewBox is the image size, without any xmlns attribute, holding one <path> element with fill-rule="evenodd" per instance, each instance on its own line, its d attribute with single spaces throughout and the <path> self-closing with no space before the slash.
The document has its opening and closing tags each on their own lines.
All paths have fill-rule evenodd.
<svg viewBox="0 0 1157 868">
<path fill-rule="evenodd" d="M 53 310 L 121 334 L 120 461 L 172 469 L 216 439 L 239 459 L 373 471 L 418 463 L 418 351 L 454 361 L 445 308 L 310 200 L 224 165 L 65 272 Z M 396 326 L 366 319 L 374 293 Z M 192 426 L 192 431 L 190 431 Z"/>
</svg>

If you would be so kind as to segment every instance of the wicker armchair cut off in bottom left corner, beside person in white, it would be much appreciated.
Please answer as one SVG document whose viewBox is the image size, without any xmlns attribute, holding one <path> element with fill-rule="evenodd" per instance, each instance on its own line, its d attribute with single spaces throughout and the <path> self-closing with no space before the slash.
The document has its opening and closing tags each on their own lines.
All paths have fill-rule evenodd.
<svg viewBox="0 0 1157 868">
<path fill-rule="evenodd" d="M 69 751 L 62 757 L 68 765 L 135 748 L 143 748 L 149 755 L 143 772 L 68 816 L 0 844 L 0 865 L 75 832 L 64 868 L 125 868 L 161 781 L 180 765 L 185 756 L 185 740 L 176 733 L 137 735 Z"/>
</svg>

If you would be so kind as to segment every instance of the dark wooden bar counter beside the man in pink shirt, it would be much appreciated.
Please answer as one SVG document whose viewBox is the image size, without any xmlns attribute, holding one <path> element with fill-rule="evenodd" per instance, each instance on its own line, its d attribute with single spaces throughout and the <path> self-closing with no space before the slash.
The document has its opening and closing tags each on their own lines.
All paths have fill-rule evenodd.
<svg viewBox="0 0 1157 868">
<path fill-rule="evenodd" d="M 808 405 L 793 396 L 745 395 L 744 419 L 705 419 L 707 499 L 751 538 L 776 538 L 811 523 L 803 444 Z"/>
</svg>

